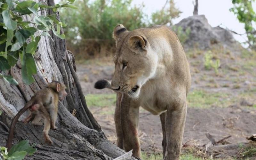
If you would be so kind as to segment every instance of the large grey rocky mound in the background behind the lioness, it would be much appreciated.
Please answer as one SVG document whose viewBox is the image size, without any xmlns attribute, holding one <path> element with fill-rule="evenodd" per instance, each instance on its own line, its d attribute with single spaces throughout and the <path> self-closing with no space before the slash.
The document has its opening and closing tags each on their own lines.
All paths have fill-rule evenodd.
<svg viewBox="0 0 256 160">
<path fill-rule="evenodd" d="M 198 46 L 200 49 L 207 49 L 211 45 L 219 43 L 224 47 L 238 44 L 230 31 L 219 26 L 212 27 L 204 15 L 190 16 L 175 26 L 182 27 L 184 31 L 190 28 L 189 38 L 185 42 L 188 47 Z"/>
</svg>

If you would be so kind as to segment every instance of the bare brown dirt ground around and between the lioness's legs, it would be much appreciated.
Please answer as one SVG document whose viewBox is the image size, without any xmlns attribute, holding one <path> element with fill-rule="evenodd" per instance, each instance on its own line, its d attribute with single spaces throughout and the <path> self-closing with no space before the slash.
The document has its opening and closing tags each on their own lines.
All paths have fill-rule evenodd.
<svg viewBox="0 0 256 160">
<path fill-rule="evenodd" d="M 213 69 L 204 69 L 204 56 L 200 52 L 203 51 L 187 52 L 192 76 L 190 92 L 193 94 L 204 91 L 203 98 L 208 95 L 210 100 L 212 95 L 217 95 L 217 99 L 213 99 L 213 102 L 206 101 L 208 98 L 200 101 L 198 100 L 200 97 L 190 100 L 183 144 L 196 146 L 208 144 L 210 140 L 205 136 L 206 133 L 210 133 L 217 141 L 231 135 L 226 144 L 248 141 L 245 137 L 256 133 L 256 58 L 248 59 L 246 55 L 245 58 L 241 58 L 235 53 L 222 56 L 212 51 L 214 56 L 220 58 L 220 67 L 216 73 Z M 88 94 L 113 94 L 114 92 L 108 89 L 93 88 L 94 83 L 99 79 L 111 80 L 113 71 L 113 62 L 109 58 L 79 63 L 77 74 L 85 97 Z M 201 106 L 202 103 L 205 105 Z M 89 106 L 89 108 L 108 139 L 115 143 L 115 106 L 101 108 Z M 141 109 L 139 135 L 142 151 L 162 152 L 162 128 L 159 116 L 151 115 Z"/>
</svg>

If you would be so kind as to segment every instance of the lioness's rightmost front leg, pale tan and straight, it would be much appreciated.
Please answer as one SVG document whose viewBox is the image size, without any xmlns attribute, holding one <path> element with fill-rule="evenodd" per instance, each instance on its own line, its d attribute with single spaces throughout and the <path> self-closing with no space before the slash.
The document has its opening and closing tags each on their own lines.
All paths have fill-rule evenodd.
<svg viewBox="0 0 256 160">
<path fill-rule="evenodd" d="M 174 104 L 172 108 L 167 109 L 165 119 L 167 146 L 164 160 L 179 159 L 186 115 L 186 102 L 180 105 Z"/>
</svg>

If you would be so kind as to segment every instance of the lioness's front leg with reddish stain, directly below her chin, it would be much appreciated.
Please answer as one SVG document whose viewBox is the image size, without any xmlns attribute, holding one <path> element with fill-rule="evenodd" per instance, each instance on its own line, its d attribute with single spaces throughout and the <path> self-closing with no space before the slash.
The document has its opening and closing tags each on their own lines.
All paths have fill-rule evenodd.
<svg viewBox="0 0 256 160">
<path fill-rule="evenodd" d="M 132 156 L 140 157 L 138 136 L 139 107 L 138 102 L 123 94 L 121 101 L 121 125 L 123 129 L 124 150 L 132 151 Z"/>
</svg>

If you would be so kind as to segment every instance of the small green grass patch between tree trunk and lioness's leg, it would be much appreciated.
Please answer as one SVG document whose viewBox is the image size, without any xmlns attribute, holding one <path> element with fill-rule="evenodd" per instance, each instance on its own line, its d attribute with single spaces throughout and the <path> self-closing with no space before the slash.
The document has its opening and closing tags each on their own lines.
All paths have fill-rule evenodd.
<svg viewBox="0 0 256 160">
<path fill-rule="evenodd" d="M 116 106 L 116 94 L 87 94 L 85 100 L 88 107 Z"/>
</svg>

